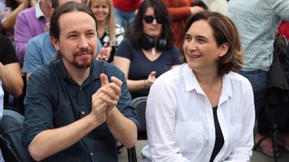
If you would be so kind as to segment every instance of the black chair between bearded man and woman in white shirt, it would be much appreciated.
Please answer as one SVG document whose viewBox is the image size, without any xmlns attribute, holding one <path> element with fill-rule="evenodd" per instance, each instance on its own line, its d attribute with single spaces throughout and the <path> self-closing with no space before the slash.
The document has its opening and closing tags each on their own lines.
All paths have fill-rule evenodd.
<svg viewBox="0 0 289 162">
<path fill-rule="evenodd" d="M 131 105 L 138 113 L 138 121 L 140 122 L 140 128 L 138 129 L 138 140 L 147 140 L 147 124 L 145 121 L 145 108 L 147 107 L 147 96 L 138 97 L 131 101 Z M 137 162 L 137 155 L 135 147 L 128 149 L 128 161 Z"/>
</svg>

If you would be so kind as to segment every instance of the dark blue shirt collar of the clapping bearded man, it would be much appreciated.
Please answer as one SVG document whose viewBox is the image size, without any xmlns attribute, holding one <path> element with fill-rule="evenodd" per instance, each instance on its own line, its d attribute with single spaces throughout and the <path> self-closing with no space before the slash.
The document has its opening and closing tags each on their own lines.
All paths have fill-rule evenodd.
<svg viewBox="0 0 289 162">
<path fill-rule="evenodd" d="M 94 62 L 91 65 L 91 70 L 89 73 L 89 80 L 99 79 L 101 76 L 101 62 L 98 60 L 94 60 Z M 57 71 L 59 73 L 59 78 L 69 78 L 66 72 L 66 68 L 64 66 L 64 61 L 62 59 L 55 61 L 55 66 L 57 68 Z"/>
</svg>

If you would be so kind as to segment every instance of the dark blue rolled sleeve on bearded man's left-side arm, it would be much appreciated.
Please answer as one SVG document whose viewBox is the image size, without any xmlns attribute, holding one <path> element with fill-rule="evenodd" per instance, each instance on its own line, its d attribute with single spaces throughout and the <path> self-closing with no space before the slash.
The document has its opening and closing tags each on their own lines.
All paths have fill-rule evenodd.
<svg viewBox="0 0 289 162">
<path fill-rule="evenodd" d="M 27 82 L 24 99 L 24 124 L 22 142 L 26 147 L 38 133 L 53 128 L 53 110 L 50 101 L 49 73 L 40 68 Z"/>
</svg>

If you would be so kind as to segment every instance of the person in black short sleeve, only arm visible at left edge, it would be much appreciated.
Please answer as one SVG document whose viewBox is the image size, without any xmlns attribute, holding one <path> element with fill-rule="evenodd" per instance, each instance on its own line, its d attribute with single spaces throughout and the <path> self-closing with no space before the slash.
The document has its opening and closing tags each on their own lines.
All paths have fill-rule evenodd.
<svg viewBox="0 0 289 162">
<path fill-rule="evenodd" d="M 20 65 L 11 40 L 0 34 L 0 82 L 5 91 L 15 97 L 22 95 L 23 80 Z"/>
</svg>

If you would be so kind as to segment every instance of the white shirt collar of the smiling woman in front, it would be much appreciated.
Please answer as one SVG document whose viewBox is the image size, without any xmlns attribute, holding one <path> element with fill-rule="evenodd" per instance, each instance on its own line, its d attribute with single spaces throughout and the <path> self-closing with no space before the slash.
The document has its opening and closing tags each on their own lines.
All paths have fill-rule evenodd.
<svg viewBox="0 0 289 162">
<path fill-rule="evenodd" d="M 227 100 L 229 96 L 232 97 L 231 73 L 232 72 L 223 76 L 222 92 L 219 99 L 221 102 L 219 103 Z M 195 78 L 195 74 L 193 73 L 192 69 L 188 67 L 188 64 L 184 65 L 184 82 L 186 91 L 192 91 L 195 89 L 195 91 L 197 91 L 199 94 L 205 95 L 205 92 L 202 91 L 197 78 Z"/>
</svg>

